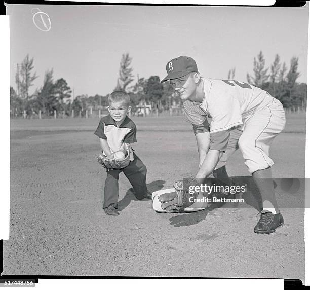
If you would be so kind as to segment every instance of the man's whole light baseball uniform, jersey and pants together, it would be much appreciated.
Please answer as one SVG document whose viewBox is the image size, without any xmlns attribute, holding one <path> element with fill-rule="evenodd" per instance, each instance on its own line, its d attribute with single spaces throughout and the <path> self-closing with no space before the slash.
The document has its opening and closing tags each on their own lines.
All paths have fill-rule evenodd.
<svg viewBox="0 0 310 290">
<path fill-rule="evenodd" d="M 238 148 L 251 174 L 272 166 L 269 147 L 285 126 L 281 102 L 262 89 L 236 80 L 202 80 L 204 99 L 202 103 L 183 102 L 185 119 L 196 134 L 209 130 L 207 117 L 212 118 L 210 150 L 224 152 L 217 168 Z"/>
</svg>

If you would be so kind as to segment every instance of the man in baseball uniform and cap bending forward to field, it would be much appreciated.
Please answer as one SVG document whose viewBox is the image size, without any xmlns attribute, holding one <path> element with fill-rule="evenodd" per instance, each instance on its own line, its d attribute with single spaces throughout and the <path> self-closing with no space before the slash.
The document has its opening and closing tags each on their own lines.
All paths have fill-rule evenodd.
<svg viewBox="0 0 310 290">
<path fill-rule="evenodd" d="M 255 233 L 272 233 L 283 225 L 273 185 L 269 148 L 284 129 L 285 112 L 268 92 L 236 80 L 213 80 L 200 76 L 191 57 L 180 56 L 166 66 L 167 77 L 183 101 L 185 119 L 195 132 L 199 171 L 196 178 L 227 179 L 225 164 L 240 148 L 245 164 L 260 191 L 262 211 Z M 210 124 L 208 118 L 211 118 Z M 202 198 L 200 193 L 198 199 Z M 190 207 L 206 205 L 194 203 Z"/>
</svg>

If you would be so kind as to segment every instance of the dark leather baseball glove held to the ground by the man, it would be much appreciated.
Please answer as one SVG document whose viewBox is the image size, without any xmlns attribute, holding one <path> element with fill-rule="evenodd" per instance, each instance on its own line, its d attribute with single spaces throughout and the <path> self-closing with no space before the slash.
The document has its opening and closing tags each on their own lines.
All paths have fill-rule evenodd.
<svg viewBox="0 0 310 290">
<path fill-rule="evenodd" d="M 199 182 L 195 178 L 176 180 L 173 183 L 175 192 L 165 193 L 158 197 L 158 200 L 162 204 L 162 208 L 165 209 L 166 212 L 184 212 L 186 207 L 193 204 L 193 202 L 189 201 L 189 198 L 196 198 L 198 196 L 198 192 L 196 191 L 194 194 L 190 194 L 189 187 L 197 185 L 199 185 Z"/>
</svg>

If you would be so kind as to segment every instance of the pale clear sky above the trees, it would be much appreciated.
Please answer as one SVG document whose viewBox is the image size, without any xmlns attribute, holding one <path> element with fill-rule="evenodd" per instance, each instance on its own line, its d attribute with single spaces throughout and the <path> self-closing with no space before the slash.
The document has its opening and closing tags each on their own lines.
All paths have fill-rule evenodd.
<svg viewBox="0 0 310 290">
<path fill-rule="evenodd" d="M 49 15 L 52 29 L 38 30 L 31 9 Z M 7 5 L 11 33 L 11 85 L 16 89 L 14 63 L 29 53 L 43 85 L 44 73 L 64 78 L 75 96 L 106 95 L 118 78 L 122 53 L 133 58 L 134 75 L 166 76 L 166 63 L 188 55 L 202 76 L 246 81 L 253 59 L 262 50 L 266 66 L 278 53 L 289 66 L 299 57 L 298 82 L 306 82 L 308 3 L 301 8 Z M 133 84 L 133 83 L 132 83 Z"/>
</svg>

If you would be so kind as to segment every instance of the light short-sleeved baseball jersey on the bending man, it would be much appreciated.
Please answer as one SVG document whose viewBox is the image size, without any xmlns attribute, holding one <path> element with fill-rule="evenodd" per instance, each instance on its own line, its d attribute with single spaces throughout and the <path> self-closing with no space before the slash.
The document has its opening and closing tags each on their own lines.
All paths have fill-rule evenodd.
<svg viewBox="0 0 310 290">
<path fill-rule="evenodd" d="M 210 133 L 240 126 L 266 105 L 279 102 L 268 92 L 236 80 L 202 78 L 202 81 L 204 99 L 202 103 L 183 102 L 185 119 L 193 125 L 200 125 L 206 117 L 212 118 Z"/>
</svg>

